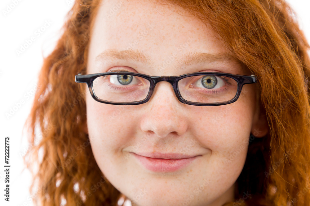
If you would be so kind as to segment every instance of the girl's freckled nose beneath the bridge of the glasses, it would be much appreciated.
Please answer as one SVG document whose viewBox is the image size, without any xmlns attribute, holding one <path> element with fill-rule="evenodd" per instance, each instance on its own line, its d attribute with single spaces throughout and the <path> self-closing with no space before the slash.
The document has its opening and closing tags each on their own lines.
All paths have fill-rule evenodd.
<svg viewBox="0 0 310 206">
<path fill-rule="evenodd" d="M 188 105 L 176 98 L 169 82 L 158 82 L 151 98 L 143 105 L 145 110 L 140 125 L 143 132 L 151 132 L 161 138 L 186 132 L 185 107 Z"/>
</svg>

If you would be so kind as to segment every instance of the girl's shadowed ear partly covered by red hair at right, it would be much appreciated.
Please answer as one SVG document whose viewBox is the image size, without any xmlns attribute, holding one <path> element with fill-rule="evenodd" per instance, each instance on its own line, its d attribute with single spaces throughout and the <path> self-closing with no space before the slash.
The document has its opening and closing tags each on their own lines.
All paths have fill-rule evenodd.
<svg viewBox="0 0 310 206">
<path fill-rule="evenodd" d="M 266 110 L 260 101 L 257 101 L 256 111 L 253 118 L 251 133 L 255 137 L 264 137 L 269 132 L 269 124 L 266 117 Z"/>
</svg>

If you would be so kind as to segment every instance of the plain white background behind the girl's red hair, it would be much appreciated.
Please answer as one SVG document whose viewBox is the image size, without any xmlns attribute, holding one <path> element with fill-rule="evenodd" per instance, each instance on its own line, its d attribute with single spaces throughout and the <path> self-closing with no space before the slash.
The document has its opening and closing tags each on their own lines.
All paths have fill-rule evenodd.
<svg viewBox="0 0 310 206">
<path fill-rule="evenodd" d="M 310 0 L 287 1 L 297 12 L 300 27 L 310 41 Z M 43 57 L 54 48 L 72 5 L 73 0 L 1 0 L 0 205 L 33 205 L 29 195 L 31 176 L 28 170 L 22 171 L 21 157 L 28 147 L 22 128 L 33 102 Z M 21 50 L 27 42 L 31 42 L 29 47 Z M 10 111 L 14 113 L 11 115 Z M 4 137 L 10 137 L 10 202 L 4 200 Z"/>
</svg>

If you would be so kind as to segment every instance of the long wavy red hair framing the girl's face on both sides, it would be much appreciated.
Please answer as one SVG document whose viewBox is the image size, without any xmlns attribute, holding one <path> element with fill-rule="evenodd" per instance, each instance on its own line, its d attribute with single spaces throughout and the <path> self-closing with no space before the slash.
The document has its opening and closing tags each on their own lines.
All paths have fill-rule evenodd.
<svg viewBox="0 0 310 206">
<path fill-rule="evenodd" d="M 269 125 L 250 138 L 235 202 L 225 205 L 310 205 L 310 48 L 283 0 L 166 0 L 212 26 L 258 79 Z M 120 192 L 100 171 L 85 127 L 82 84 L 100 0 L 76 0 L 63 34 L 44 59 L 27 124 L 25 155 L 38 205 L 116 205 Z M 37 191 L 35 191 L 37 190 Z M 250 193 L 245 199 L 244 192 Z"/>
</svg>

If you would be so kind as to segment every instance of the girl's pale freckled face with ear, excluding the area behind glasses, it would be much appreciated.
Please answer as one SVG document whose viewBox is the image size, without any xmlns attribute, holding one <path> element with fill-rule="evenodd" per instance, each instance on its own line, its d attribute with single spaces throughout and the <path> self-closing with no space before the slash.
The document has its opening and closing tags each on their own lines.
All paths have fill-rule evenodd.
<svg viewBox="0 0 310 206">
<path fill-rule="evenodd" d="M 177 6 L 104 1 L 93 27 L 87 74 L 115 69 L 150 76 L 251 74 L 229 58 L 202 57 L 225 53 L 210 26 Z M 140 105 L 99 103 L 87 91 L 87 128 L 96 162 L 138 205 L 233 200 L 250 132 L 256 137 L 267 132 L 255 86 L 244 85 L 232 104 L 211 107 L 179 102 L 168 82 L 159 82 L 151 99 Z"/>
</svg>

